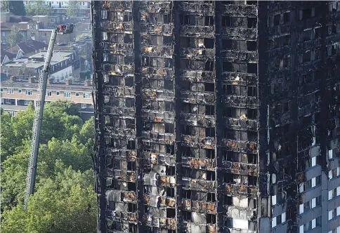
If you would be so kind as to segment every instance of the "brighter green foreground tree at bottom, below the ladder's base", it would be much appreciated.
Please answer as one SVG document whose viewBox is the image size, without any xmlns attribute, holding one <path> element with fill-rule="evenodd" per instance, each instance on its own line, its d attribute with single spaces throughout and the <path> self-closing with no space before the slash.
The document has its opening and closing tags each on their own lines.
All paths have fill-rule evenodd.
<svg viewBox="0 0 340 233">
<path fill-rule="evenodd" d="M 1 232 L 96 232 L 96 194 L 91 171 L 74 171 L 56 161 L 54 178 L 44 178 L 30 197 L 27 211 L 21 202 L 2 214 Z"/>
</svg>

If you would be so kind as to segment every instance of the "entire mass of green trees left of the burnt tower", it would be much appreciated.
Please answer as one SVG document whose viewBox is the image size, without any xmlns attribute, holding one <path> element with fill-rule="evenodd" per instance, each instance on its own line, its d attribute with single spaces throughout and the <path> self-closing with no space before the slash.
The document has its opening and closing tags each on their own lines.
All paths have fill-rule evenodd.
<svg viewBox="0 0 340 233">
<path fill-rule="evenodd" d="M 34 108 L 1 112 L 1 232 L 96 232 L 91 153 L 94 119 L 76 105 L 46 103 L 35 192 L 23 210 Z"/>
</svg>

